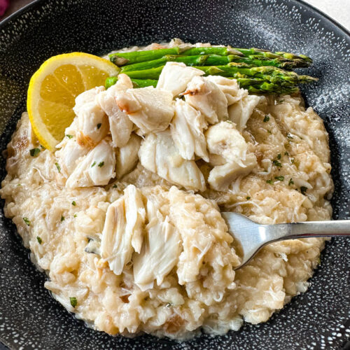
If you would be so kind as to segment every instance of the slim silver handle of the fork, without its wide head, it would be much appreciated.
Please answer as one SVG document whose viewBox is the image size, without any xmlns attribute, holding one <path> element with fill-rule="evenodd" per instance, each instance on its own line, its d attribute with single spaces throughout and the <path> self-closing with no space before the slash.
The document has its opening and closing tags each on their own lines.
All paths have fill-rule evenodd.
<svg viewBox="0 0 350 350">
<path fill-rule="evenodd" d="M 273 228 L 275 239 L 350 236 L 350 220 L 305 221 L 267 225 Z"/>
</svg>

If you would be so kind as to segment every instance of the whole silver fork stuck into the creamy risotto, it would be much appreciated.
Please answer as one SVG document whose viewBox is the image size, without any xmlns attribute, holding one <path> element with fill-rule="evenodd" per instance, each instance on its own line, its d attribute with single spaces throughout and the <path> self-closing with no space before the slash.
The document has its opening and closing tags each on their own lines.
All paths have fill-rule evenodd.
<svg viewBox="0 0 350 350">
<path fill-rule="evenodd" d="M 240 269 L 248 263 L 260 248 L 274 241 L 309 237 L 344 237 L 350 236 L 350 220 L 306 221 L 303 223 L 279 223 L 260 225 L 237 213 L 221 213 L 228 224 L 232 237 L 240 244 Z"/>
</svg>

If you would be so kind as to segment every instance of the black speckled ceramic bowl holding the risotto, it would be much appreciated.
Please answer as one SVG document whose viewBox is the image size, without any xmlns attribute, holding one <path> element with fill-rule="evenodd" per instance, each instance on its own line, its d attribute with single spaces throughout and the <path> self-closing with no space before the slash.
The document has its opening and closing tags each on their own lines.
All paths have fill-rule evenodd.
<svg viewBox="0 0 350 350">
<path fill-rule="evenodd" d="M 173 37 L 314 58 L 303 90 L 330 133 L 334 218 L 349 218 L 350 36 L 295 0 L 36 1 L 0 25 L 0 148 L 25 111 L 29 78 L 62 52 L 106 53 Z M 0 165 L 5 176 L 4 161 Z M 11 349 L 341 349 L 350 335 L 350 240 L 327 244 L 307 293 L 272 319 L 239 332 L 177 343 L 110 337 L 86 328 L 43 288 L 15 227 L 0 213 L 0 339 Z"/>
</svg>

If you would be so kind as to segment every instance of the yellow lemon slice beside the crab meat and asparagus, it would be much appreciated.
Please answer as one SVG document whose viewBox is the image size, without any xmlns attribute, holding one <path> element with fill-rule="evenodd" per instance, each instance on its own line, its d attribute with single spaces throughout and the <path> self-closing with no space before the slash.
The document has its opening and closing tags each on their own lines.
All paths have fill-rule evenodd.
<svg viewBox="0 0 350 350">
<path fill-rule="evenodd" d="M 46 60 L 31 77 L 27 98 L 29 120 L 40 143 L 53 151 L 73 121 L 78 94 L 104 85 L 119 70 L 108 60 L 83 52 Z"/>
</svg>

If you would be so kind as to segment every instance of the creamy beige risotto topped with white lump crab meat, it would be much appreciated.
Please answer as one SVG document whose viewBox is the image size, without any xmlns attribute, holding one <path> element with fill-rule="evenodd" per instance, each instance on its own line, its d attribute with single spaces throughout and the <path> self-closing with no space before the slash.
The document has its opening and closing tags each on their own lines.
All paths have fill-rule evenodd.
<svg viewBox="0 0 350 350">
<path fill-rule="evenodd" d="M 1 189 L 66 309 L 111 335 L 188 339 L 265 322 L 307 290 L 324 239 L 269 244 L 235 272 L 221 217 L 331 218 L 328 134 L 299 94 L 252 95 L 169 62 L 156 88 L 120 75 L 74 112 L 55 153 L 22 114 Z"/>
</svg>

